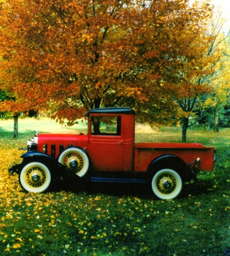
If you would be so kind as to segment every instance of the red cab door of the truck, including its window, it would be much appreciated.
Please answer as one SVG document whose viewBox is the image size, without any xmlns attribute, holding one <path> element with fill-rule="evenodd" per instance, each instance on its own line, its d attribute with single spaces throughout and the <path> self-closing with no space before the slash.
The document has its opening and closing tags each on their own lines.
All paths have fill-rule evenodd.
<svg viewBox="0 0 230 256">
<path fill-rule="evenodd" d="M 93 170 L 122 171 L 124 141 L 120 115 L 91 115 L 89 118 L 89 157 Z"/>
</svg>

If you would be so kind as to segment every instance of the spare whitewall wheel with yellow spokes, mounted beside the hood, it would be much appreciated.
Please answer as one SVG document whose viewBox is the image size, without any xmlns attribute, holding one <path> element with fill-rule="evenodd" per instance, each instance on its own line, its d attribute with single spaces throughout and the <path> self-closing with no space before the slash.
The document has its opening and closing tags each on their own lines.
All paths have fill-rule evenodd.
<svg viewBox="0 0 230 256">
<path fill-rule="evenodd" d="M 82 177 L 89 169 L 88 156 L 80 148 L 66 148 L 58 157 L 58 162 L 67 169 L 73 170 L 76 175 Z"/>
</svg>

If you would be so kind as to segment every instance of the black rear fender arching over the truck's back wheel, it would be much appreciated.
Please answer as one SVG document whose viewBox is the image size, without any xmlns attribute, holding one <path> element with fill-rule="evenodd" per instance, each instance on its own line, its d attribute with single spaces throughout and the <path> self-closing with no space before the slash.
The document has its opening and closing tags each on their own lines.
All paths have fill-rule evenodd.
<svg viewBox="0 0 230 256">
<path fill-rule="evenodd" d="M 170 154 L 160 155 L 153 159 L 147 168 L 147 176 L 151 178 L 155 173 L 163 168 L 173 169 L 180 175 L 184 182 L 187 182 L 190 179 L 190 169 L 188 165 L 179 156 Z"/>
</svg>

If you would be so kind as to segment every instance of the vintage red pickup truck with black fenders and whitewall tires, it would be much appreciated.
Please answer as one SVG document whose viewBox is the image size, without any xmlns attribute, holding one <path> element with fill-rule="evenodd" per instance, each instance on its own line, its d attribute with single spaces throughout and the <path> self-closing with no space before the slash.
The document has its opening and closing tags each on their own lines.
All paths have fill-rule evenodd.
<svg viewBox="0 0 230 256">
<path fill-rule="evenodd" d="M 198 170 L 213 170 L 216 151 L 200 143 L 135 143 L 132 108 L 89 110 L 88 135 L 39 134 L 27 142 L 19 174 L 28 192 L 43 192 L 63 173 L 91 182 L 142 182 L 161 199 L 179 195 Z M 67 181 L 68 182 L 68 181 Z"/>
</svg>

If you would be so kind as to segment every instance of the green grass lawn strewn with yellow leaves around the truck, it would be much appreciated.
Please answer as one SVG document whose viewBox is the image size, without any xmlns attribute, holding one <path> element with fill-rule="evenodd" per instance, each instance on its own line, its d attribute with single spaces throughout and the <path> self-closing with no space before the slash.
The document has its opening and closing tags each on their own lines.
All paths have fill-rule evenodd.
<svg viewBox="0 0 230 256">
<path fill-rule="evenodd" d="M 188 142 L 215 146 L 214 172 L 185 184 L 176 199 L 161 201 L 143 185 L 80 186 L 59 183 L 49 193 L 25 193 L 8 166 L 20 161 L 33 130 L 75 133 L 47 119 L 0 121 L 0 255 L 221 256 L 230 249 L 230 129 L 188 131 Z M 136 141 L 180 142 L 179 128 L 138 125 Z"/>
</svg>

